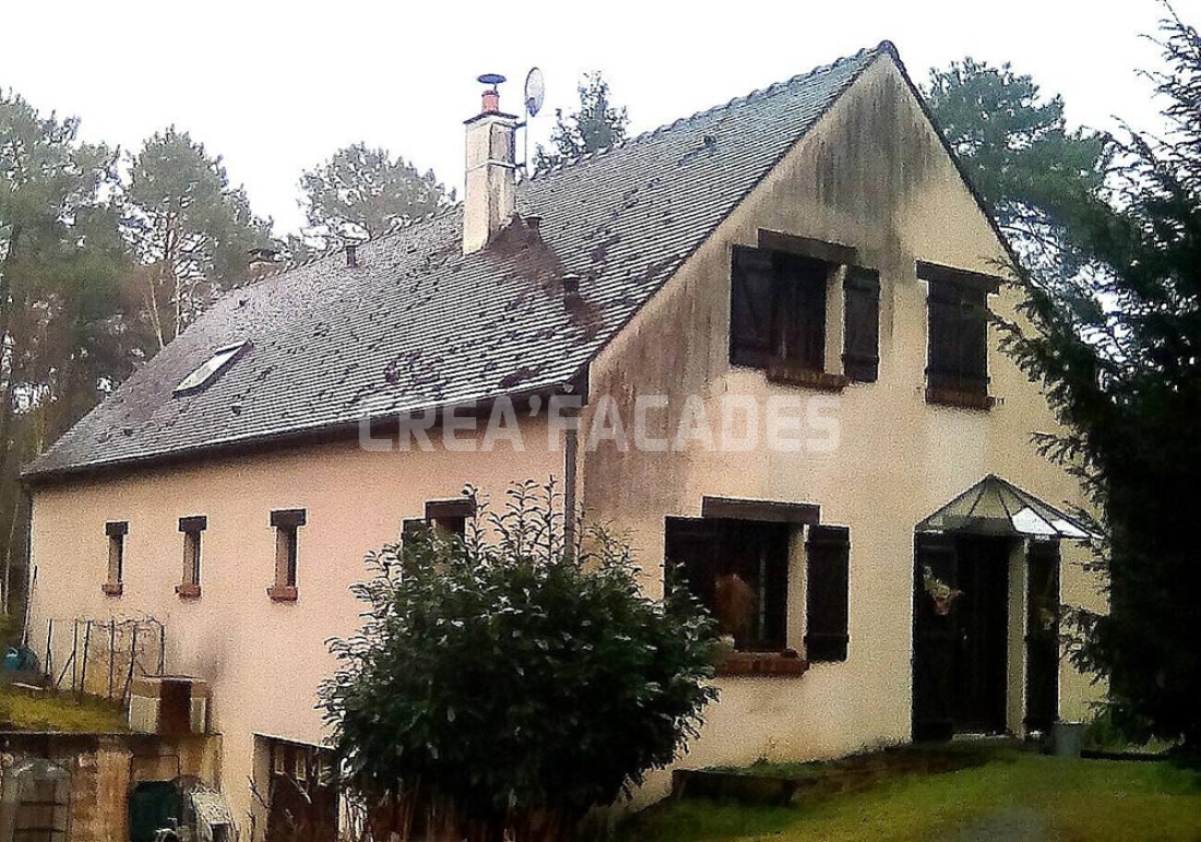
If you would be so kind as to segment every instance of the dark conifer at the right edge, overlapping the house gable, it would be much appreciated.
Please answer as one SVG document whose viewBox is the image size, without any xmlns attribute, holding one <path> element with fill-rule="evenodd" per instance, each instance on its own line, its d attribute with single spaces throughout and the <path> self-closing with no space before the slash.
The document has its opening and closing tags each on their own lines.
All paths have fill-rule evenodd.
<svg viewBox="0 0 1201 842">
<path fill-rule="evenodd" d="M 1166 71 L 1153 74 L 1171 131 L 1107 138 L 1106 186 L 1077 209 L 1093 261 L 1032 273 L 1005 347 L 1041 381 L 1065 432 L 1041 437 L 1101 513 L 1110 611 L 1076 615 L 1076 661 L 1110 680 L 1136 736 L 1201 753 L 1201 38 L 1167 7 Z"/>
</svg>

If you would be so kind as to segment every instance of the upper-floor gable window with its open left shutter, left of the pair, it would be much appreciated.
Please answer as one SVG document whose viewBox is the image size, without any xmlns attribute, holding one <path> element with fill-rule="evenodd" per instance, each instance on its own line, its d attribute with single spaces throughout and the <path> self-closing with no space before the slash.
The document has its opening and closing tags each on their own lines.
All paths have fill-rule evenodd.
<svg viewBox="0 0 1201 842">
<path fill-rule="evenodd" d="M 824 371 L 831 268 L 812 257 L 735 246 L 730 362 Z"/>
</svg>

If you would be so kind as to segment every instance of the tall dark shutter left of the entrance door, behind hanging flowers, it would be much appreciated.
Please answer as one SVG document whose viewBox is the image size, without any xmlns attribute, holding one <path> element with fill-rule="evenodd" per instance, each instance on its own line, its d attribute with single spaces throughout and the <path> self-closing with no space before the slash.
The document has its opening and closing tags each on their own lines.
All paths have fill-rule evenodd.
<svg viewBox="0 0 1201 842">
<path fill-rule="evenodd" d="M 955 731 L 955 655 L 960 632 L 939 614 L 926 591 L 926 571 L 951 587 L 958 584 L 958 553 L 949 535 L 914 536 L 913 739 L 949 740 Z"/>
</svg>

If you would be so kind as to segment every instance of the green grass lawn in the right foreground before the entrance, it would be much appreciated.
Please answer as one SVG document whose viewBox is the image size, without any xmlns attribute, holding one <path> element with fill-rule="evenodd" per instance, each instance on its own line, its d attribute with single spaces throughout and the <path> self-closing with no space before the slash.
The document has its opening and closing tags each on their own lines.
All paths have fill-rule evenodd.
<svg viewBox="0 0 1201 842">
<path fill-rule="evenodd" d="M 793 806 L 679 799 L 623 842 L 752 840 L 1201 840 L 1201 774 L 1169 763 L 1000 751 L 974 769 L 907 774 Z"/>
</svg>

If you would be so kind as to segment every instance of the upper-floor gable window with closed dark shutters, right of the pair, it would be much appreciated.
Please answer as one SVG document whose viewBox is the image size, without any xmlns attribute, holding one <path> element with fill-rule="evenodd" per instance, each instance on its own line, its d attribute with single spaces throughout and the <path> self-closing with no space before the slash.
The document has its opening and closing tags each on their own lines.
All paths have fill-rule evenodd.
<svg viewBox="0 0 1201 842">
<path fill-rule="evenodd" d="M 926 362 L 931 402 L 988 408 L 988 293 L 996 279 L 919 263 L 930 282 Z"/>
</svg>

